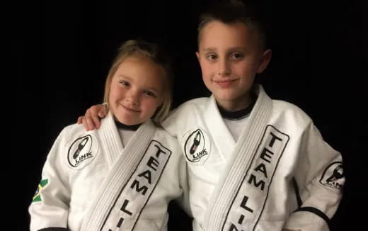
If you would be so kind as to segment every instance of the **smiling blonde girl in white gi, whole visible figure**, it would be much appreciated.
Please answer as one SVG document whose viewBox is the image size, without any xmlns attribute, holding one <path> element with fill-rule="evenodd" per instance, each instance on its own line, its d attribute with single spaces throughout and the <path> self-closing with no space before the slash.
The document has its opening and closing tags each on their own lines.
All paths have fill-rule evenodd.
<svg viewBox="0 0 368 231">
<path fill-rule="evenodd" d="M 186 191 L 178 142 L 157 125 L 171 105 L 159 47 L 128 40 L 105 82 L 99 130 L 69 125 L 47 156 L 30 230 L 166 230 L 167 206 Z M 152 118 L 152 119 L 151 119 Z"/>
</svg>

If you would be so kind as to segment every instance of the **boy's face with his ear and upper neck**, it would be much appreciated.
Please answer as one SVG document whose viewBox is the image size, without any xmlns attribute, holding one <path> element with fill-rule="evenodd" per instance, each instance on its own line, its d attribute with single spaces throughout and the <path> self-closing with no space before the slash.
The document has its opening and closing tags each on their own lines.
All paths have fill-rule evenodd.
<svg viewBox="0 0 368 231">
<path fill-rule="evenodd" d="M 207 89 L 224 109 L 248 106 L 256 73 L 263 72 L 271 51 L 260 49 L 258 33 L 244 23 L 212 21 L 200 34 L 196 53 Z"/>
</svg>

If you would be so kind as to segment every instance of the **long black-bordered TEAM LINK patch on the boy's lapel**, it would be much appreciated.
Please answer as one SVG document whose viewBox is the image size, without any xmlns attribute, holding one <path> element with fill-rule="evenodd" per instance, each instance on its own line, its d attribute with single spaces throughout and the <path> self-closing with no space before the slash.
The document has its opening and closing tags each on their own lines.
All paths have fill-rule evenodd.
<svg viewBox="0 0 368 231">
<path fill-rule="evenodd" d="M 263 138 L 231 203 L 222 230 L 255 230 L 289 136 L 267 125 Z"/>
</svg>

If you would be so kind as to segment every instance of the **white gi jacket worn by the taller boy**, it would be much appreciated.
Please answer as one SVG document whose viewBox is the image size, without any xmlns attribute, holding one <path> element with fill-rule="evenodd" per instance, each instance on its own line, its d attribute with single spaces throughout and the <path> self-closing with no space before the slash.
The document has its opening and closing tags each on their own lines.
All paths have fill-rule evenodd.
<svg viewBox="0 0 368 231">
<path fill-rule="evenodd" d="M 194 230 L 328 230 L 345 181 L 339 152 L 297 106 L 261 86 L 234 140 L 214 96 L 173 111 L 163 127 L 188 163 Z"/>
</svg>

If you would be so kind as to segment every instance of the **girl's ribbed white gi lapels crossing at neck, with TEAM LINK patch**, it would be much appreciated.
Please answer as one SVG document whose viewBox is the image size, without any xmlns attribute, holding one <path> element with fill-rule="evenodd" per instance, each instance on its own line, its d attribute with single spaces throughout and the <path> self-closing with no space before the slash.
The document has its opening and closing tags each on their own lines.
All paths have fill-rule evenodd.
<svg viewBox="0 0 368 231">
<path fill-rule="evenodd" d="M 133 230 L 171 151 L 152 140 L 156 128 L 149 120 L 139 127 L 121 152 L 121 140 L 113 117 L 105 120 L 98 135 L 104 152 L 110 156 L 109 162 L 115 162 L 105 181 L 101 182 L 98 196 L 81 230 L 117 230 L 120 227 Z"/>
</svg>

